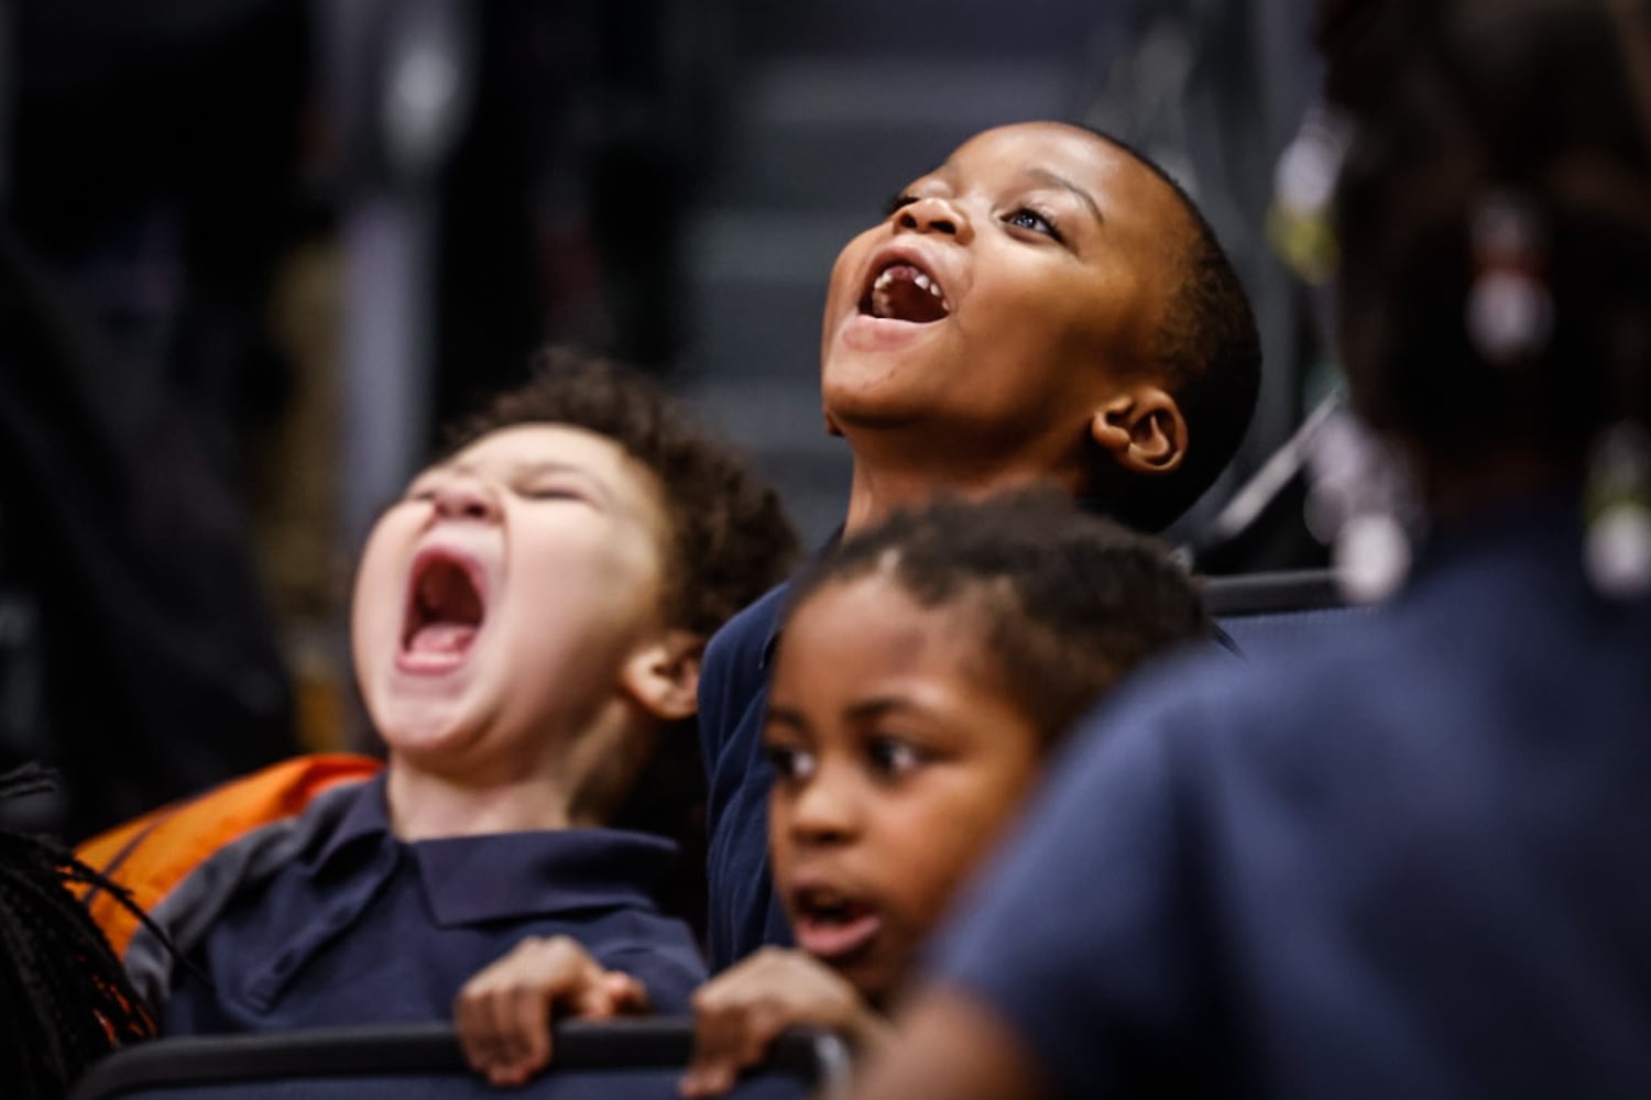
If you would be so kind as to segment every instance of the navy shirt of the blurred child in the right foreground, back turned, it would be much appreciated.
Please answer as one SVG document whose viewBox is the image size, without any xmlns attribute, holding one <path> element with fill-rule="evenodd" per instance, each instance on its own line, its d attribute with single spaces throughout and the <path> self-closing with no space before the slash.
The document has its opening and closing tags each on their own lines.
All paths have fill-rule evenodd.
<svg viewBox="0 0 1651 1100">
<path fill-rule="evenodd" d="M 1578 516 L 1114 696 L 933 976 L 1081 1095 L 1651 1097 L 1651 600 Z"/>
</svg>

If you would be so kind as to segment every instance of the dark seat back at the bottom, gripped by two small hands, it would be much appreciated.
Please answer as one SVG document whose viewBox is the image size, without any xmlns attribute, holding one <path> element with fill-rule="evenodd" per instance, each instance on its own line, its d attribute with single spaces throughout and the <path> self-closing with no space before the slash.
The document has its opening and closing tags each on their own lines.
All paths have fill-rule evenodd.
<svg viewBox="0 0 1651 1100">
<path fill-rule="evenodd" d="M 675 1098 L 688 1019 L 568 1021 L 555 1065 L 523 1088 L 495 1090 L 464 1064 L 446 1024 L 157 1039 L 99 1062 L 71 1100 L 426 1100 L 462 1097 Z M 840 1097 L 847 1047 L 819 1031 L 786 1032 L 731 1097 Z"/>
</svg>

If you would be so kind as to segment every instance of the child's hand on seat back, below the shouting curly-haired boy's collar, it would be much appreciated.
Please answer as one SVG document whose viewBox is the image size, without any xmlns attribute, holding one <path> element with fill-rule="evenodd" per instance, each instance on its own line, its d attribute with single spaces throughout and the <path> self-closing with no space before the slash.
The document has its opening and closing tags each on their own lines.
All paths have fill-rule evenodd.
<svg viewBox="0 0 1651 1100">
<path fill-rule="evenodd" d="M 471 1067 L 494 1085 L 520 1085 L 550 1065 L 550 1014 L 608 1019 L 646 1013 L 647 990 L 603 970 L 565 935 L 528 937 L 464 983 L 452 1022 Z"/>
</svg>

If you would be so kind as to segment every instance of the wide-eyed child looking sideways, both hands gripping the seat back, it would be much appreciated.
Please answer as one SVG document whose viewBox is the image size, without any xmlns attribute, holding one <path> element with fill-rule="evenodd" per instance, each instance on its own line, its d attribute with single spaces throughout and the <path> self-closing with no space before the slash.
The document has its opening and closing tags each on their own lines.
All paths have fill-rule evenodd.
<svg viewBox="0 0 1651 1100">
<path fill-rule="evenodd" d="M 764 747 L 774 881 L 799 950 L 768 948 L 693 998 L 687 1095 L 726 1090 L 792 1024 L 872 1046 L 958 886 L 1014 818 L 1067 726 L 1207 622 L 1162 548 L 1058 491 L 901 511 L 799 579 Z M 566 942 L 523 943 L 456 1008 L 477 1069 L 545 1064 L 543 1009 L 609 1009 Z"/>
</svg>

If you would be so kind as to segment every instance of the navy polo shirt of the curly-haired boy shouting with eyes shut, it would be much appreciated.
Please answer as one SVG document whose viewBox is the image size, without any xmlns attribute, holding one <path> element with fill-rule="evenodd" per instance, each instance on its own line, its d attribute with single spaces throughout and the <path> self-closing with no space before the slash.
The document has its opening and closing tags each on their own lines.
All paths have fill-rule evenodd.
<svg viewBox="0 0 1651 1100">
<path fill-rule="evenodd" d="M 570 935 L 687 1011 L 705 980 L 693 933 L 650 889 L 675 846 L 617 830 L 538 830 L 401 843 L 385 780 L 348 793 L 337 825 L 238 891 L 178 968 L 167 1034 L 449 1019 L 475 971 L 528 935 Z"/>
</svg>

